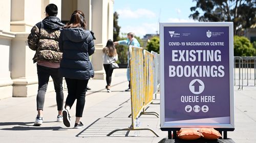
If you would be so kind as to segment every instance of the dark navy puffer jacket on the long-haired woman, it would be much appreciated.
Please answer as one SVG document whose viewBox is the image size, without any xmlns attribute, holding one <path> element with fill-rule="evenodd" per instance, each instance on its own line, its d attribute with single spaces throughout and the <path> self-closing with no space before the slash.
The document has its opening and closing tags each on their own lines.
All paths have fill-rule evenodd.
<svg viewBox="0 0 256 143">
<path fill-rule="evenodd" d="M 63 77 L 86 80 L 94 71 L 89 56 L 94 53 L 94 35 L 82 28 L 63 29 L 59 36 L 59 49 L 63 52 L 60 73 Z"/>
</svg>

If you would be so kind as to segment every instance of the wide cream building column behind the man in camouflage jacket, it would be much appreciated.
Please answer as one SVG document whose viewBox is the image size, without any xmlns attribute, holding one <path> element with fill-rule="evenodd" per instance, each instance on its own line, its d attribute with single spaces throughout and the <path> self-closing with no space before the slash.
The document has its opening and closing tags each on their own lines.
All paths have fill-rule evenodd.
<svg viewBox="0 0 256 143">
<path fill-rule="evenodd" d="M 45 7 L 49 3 L 50 1 L 11 0 L 10 31 L 15 33 L 15 38 L 11 43 L 13 97 L 28 97 L 37 94 L 37 69 L 32 60 L 35 51 L 28 47 L 27 40 L 31 28 L 45 18 Z M 61 11 L 61 6 L 58 6 L 58 11 Z M 47 92 L 50 91 L 54 91 L 52 80 L 47 89 Z"/>
</svg>

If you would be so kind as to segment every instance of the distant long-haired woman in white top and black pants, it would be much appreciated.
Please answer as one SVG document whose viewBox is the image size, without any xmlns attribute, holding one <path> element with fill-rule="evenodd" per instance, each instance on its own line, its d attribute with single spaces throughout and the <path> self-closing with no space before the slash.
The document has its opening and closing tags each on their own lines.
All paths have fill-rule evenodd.
<svg viewBox="0 0 256 143">
<path fill-rule="evenodd" d="M 102 52 L 103 52 L 102 54 L 103 67 L 106 73 L 105 88 L 108 92 L 111 92 L 110 84 L 111 84 L 113 69 L 110 68 L 110 63 L 112 61 L 117 61 L 118 59 L 118 54 L 116 52 L 116 48 L 112 40 L 108 40 L 108 42 L 106 42 L 106 46 L 102 49 Z"/>
</svg>

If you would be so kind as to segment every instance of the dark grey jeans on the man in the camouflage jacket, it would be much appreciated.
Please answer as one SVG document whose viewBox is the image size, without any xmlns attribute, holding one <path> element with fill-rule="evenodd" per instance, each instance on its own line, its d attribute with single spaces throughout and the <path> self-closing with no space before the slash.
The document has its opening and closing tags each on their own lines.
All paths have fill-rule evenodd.
<svg viewBox="0 0 256 143">
<path fill-rule="evenodd" d="M 38 92 L 36 97 L 37 110 L 44 109 L 45 95 L 49 82 L 49 77 L 52 77 L 54 83 L 54 89 L 56 93 L 57 109 L 60 111 L 63 109 L 63 77 L 59 74 L 58 68 L 49 68 L 45 66 L 37 65 L 38 76 Z"/>
</svg>

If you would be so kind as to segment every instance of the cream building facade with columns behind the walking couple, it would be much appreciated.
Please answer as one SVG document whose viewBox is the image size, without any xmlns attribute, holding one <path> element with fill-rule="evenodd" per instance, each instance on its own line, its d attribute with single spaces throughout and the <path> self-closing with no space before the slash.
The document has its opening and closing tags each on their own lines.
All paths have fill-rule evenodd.
<svg viewBox="0 0 256 143">
<path fill-rule="evenodd" d="M 2 0 L 0 1 L 0 100 L 8 97 L 28 97 L 37 94 L 35 51 L 28 47 L 27 37 L 32 26 L 45 18 L 45 7 L 58 6 L 61 20 L 68 21 L 78 9 L 86 15 L 87 29 L 95 33 L 96 52 L 92 56 L 96 76 L 104 78 L 101 50 L 113 39 L 113 0 Z M 54 91 L 50 79 L 47 92 Z"/>
</svg>

